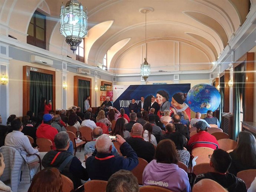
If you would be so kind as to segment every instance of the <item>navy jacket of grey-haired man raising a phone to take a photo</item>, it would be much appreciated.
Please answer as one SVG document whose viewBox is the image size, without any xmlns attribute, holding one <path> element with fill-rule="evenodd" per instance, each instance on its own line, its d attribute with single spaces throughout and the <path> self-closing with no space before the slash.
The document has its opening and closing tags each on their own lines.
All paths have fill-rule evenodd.
<svg viewBox="0 0 256 192">
<path fill-rule="evenodd" d="M 125 151 L 127 158 L 124 158 L 123 156 L 111 157 L 111 153 L 98 153 L 95 149 L 92 156 L 87 158 L 85 162 L 89 178 L 91 180 L 98 179 L 108 181 L 110 176 L 120 169 L 128 171 L 134 169 L 139 163 L 135 151 L 127 142 L 124 142 L 121 145 L 120 150 Z"/>
</svg>

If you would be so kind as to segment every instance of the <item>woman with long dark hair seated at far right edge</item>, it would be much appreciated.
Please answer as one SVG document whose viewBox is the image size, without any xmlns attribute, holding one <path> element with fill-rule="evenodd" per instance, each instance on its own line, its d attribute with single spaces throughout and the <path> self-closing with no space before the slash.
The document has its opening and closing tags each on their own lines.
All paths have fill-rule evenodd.
<svg viewBox="0 0 256 192">
<path fill-rule="evenodd" d="M 240 132 L 237 147 L 229 154 L 232 158 L 230 173 L 236 175 L 239 171 L 256 169 L 256 139 L 252 133 Z"/>
</svg>

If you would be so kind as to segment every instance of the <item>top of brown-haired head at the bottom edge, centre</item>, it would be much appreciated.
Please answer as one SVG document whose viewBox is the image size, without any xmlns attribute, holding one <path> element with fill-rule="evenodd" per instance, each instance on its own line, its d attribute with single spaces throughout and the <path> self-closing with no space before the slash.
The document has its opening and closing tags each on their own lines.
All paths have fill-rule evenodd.
<svg viewBox="0 0 256 192">
<path fill-rule="evenodd" d="M 108 179 L 106 192 L 139 192 L 138 180 L 132 172 L 119 170 Z"/>
</svg>

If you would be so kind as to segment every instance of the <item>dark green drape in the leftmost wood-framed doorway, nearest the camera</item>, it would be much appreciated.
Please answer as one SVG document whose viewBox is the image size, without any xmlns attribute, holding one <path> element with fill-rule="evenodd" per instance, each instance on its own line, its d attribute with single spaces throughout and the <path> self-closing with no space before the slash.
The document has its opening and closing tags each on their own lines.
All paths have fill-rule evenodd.
<svg viewBox="0 0 256 192">
<path fill-rule="evenodd" d="M 46 98 L 46 103 L 52 100 L 53 104 L 53 76 L 46 73 L 30 71 L 30 105 L 29 109 L 35 115 L 39 112 L 42 97 Z"/>
</svg>

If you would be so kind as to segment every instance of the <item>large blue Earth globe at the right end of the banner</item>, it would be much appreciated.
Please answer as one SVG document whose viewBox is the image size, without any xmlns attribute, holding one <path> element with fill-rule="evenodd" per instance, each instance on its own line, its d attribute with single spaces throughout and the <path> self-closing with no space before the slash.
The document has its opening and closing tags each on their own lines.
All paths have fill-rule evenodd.
<svg viewBox="0 0 256 192">
<path fill-rule="evenodd" d="M 220 93 L 214 86 L 200 83 L 188 91 L 187 104 L 193 112 L 215 111 L 220 105 Z"/>
</svg>

